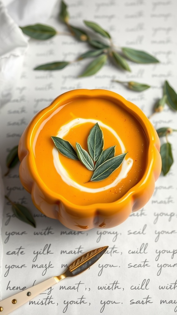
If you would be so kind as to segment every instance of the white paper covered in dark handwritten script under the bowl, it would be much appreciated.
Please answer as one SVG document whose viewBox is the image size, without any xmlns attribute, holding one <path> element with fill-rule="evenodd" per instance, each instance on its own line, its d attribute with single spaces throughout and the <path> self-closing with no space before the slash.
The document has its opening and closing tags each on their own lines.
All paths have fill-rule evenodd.
<svg viewBox="0 0 177 315">
<path fill-rule="evenodd" d="M 90 60 L 73 63 L 61 71 L 32 69 L 56 60 L 74 60 L 88 50 L 87 44 L 69 36 L 48 41 L 30 40 L 23 72 L 12 100 L 1 109 L 1 165 L 9 150 L 17 145 L 30 119 L 57 95 L 71 89 L 110 89 L 138 105 L 147 116 L 162 97 L 164 80 L 176 86 L 176 1 L 68 0 L 71 22 L 93 20 L 112 34 L 116 46 L 145 50 L 160 64 L 130 62 L 132 72 L 122 72 L 111 64 L 93 77 L 77 78 Z M 55 10 L 48 21 L 60 31 L 65 27 Z M 151 89 L 136 93 L 112 80 L 138 81 Z M 154 115 L 155 128 L 176 129 L 177 116 L 165 107 Z M 22 188 L 18 167 L 4 179 L 6 194 L 31 209 L 36 229 L 19 221 L 6 201 L 2 227 L 2 298 L 33 284 L 59 275 L 82 253 L 105 245 L 109 249 L 89 270 L 38 295 L 13 312 L 18 314 L 173 314 L 177 312 L 177 185 L 176 134 L 169 136 L 174 164 L 160 176 L 151 200 L 128 220 L 111 229 L 75 232 L 60 222 L 43 216 Z"/>
</svg>

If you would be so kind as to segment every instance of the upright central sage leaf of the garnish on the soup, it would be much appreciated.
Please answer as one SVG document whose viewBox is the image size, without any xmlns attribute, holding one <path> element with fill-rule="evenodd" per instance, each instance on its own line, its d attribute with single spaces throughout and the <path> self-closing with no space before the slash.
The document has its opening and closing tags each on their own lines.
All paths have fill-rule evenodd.
<svg viewBox="0 0 177 315">
<path fill-rule="evenodd" d="M 87 139 L 88 152 L 94 162 L 96 162 L 101 153 L 103 152 L 104 140 L 103 140 L 103 132 L 100 129 L 98 123 L 94 125 L 94 127 L 90 130 Z"/>
</svg>

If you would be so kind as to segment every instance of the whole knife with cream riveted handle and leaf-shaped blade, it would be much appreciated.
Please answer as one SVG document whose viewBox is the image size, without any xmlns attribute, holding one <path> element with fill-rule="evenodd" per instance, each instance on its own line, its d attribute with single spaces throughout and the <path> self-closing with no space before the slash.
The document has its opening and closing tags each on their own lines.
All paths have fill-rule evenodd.
<svg viewBox="0 0 177 315">
<path fill-rule="evenodd" d="M 29 289 L 23 290 L 17 294 L 8 297 L 0 302 L 0 314 L 7 315 L 18 307 L 32 300 L 35 296 L 49 289 L 60 280 L 67 277 L 74 277 L 92 266 L 108 249 L 108 246 L 93 249 L 73 261 L 66 271 L 60 276 L 49 278 Z"/>
</svg>

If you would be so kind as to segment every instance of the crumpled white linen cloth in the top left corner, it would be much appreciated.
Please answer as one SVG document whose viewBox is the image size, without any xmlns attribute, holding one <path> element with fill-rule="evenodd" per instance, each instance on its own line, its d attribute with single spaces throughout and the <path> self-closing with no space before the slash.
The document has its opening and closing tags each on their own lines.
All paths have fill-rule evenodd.
<svg viewBox="0 0 177 315">
<path fill-rule="evenodd" d="M 0 107 L 12 98 L 28 47 L 19 26 L 45 23 L 56 1 L 0 0 Z"/>
</svg>

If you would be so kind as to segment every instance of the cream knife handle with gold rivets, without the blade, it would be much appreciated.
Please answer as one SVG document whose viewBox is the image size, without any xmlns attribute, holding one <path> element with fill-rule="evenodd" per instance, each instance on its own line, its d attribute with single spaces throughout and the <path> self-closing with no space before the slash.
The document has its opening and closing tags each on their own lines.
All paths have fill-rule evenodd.
<svg viewBox="0 0 177 315">
<path fill-rule="evenodd" d="M 54 277 L 49 278 L 33 287 L 14 294 L 0 302 L 0 315 L 7 315 L 13 312 L 16 308 L 32 300 L 35 296 L 56 284 Z"/>
</svg>

